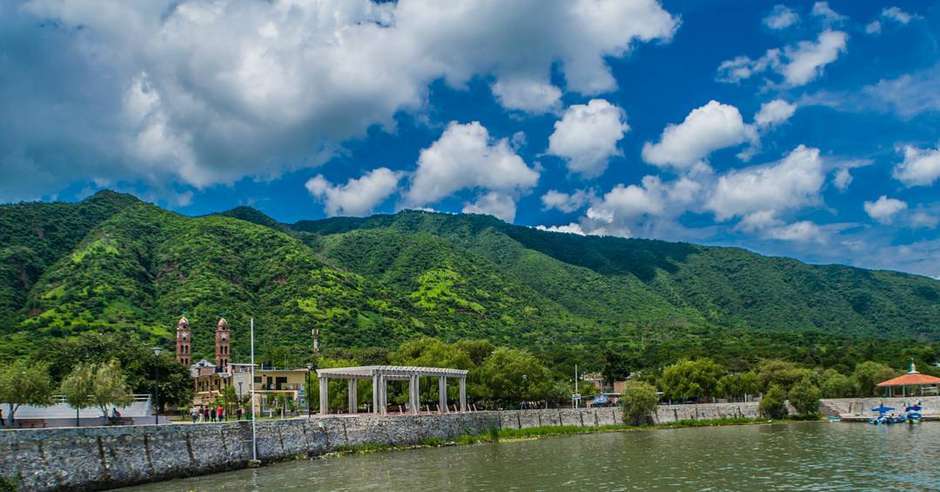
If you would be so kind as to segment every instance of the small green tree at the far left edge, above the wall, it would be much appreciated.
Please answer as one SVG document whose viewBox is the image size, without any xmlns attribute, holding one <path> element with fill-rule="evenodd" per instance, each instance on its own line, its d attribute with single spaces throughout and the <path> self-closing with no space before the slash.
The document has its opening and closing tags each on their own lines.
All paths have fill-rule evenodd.
<svg viewBox="0 0 940 492">
<path fill-rule="evenodd" d="M 52 392 L 48 364 L 19 359 L 0 370 L 0 401 L 7 404 L 11 426 L 20 405 L 51 405 Z"/>
</svg>

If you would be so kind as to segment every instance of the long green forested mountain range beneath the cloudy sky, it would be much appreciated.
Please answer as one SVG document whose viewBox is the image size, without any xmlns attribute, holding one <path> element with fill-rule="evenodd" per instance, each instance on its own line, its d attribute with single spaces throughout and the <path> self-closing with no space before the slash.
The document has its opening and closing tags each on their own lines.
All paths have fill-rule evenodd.
<svg viewBox="0 0 940 492">
<path fill-rule="evenodd" d="M 938 300 L 940 282 L 926 277 L 481 215 L 280 224 L 247 207 L 186 217 L 113 192 L 0 206 L 0 357 L 87 331 L 169 345 L 185 314 L 203 356 L 226 317 L 235 359 L 247 355 L 250 317 L 269 356 L 306 353 L 319 327 L 326 347 L 429 335 L 647 362 L 690 351 L 819 358 L 858 339 L 936 341 Z"/>
</svg>

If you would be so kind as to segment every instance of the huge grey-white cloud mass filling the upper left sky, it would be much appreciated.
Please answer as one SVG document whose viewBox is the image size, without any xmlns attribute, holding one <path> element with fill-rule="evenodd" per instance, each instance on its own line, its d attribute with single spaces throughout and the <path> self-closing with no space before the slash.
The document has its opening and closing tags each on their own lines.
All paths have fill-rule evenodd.
<svg viewBox="0 0 940 492">
<path fill-rule="evenodd" d="M 15 79 L 0 107 L 62 127 L 0 131 L 7 199 L 96 177 L 203 187 L 277 176 L 329 159 L 372 126 L 394 129 L 395 115 L 423 111 L 441 79 L 460 89 L 483 77 L 507 108 L 552 110 L 562 91 L 616 89 L 605 60 L 669 40 L 679 24 L 655 0 L 29 0 L 5 9 L 2 42 L 34 49 L 0 60 Z"/>
</svg>

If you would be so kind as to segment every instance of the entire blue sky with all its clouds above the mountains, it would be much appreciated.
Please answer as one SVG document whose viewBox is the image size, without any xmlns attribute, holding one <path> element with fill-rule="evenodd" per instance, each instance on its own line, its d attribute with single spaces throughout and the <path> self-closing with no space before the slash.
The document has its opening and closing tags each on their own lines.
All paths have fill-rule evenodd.
<svg viewBox="0 0 940 492">
<path fill-rule="evenodd" d="M 940 277 L 940 2 L 0 2 L 0 202 L 402 209 Z"/>
</svg>

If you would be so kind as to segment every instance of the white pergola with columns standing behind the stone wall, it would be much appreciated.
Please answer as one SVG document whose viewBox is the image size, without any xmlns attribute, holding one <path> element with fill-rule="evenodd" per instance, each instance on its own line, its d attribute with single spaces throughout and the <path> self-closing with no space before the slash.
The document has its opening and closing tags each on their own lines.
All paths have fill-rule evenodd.
<svg viewBox="0 0 940 492">
<path fill-rule="evenodd" d="M 467 411 L 467 371 L 463 369 L 448 369 L 444 367 L 418 367 L 418 366 L 359 366 L 335 367 L 330 369 L 317 369 L 317 379 L 320 382 L 320 415 L 329 413 L 330 379 L 345 379 L 348 384 L 349 413 L 356 413 L 358 407 L 357 383 L 360 379 L 372 380 L 372 412 L 378 415 L 386 413 L 388 406 L 388 381 L 408 381 L 408 409 L 413 414 L 418 413 L 420 378 L 438 378 L 438 401 L 441 412 L 447 412 L 447 378 L 456 378 L 460 381 L 460 411 Z"/>
</svg>

